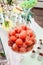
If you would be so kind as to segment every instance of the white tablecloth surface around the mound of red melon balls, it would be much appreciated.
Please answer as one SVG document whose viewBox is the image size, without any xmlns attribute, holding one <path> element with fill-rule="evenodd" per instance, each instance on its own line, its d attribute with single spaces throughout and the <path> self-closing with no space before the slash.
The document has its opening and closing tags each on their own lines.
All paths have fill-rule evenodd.
<svg viewBox="0 0 43 65">
<path fill-rule="evenodd" d="M 30 27 L 34 30 L 36 34 L 37 41 L 39 39 L 43 39 L 43 28 L 41 28 L 34 20 L 34 18 L 31 19 Z M 37 54 L 36 57 L 33 59 L 31 58 L 31 51 L 26 54 L 18 54 L 13 52 L 8 47 L 8 35 L 5 30 L 2 29 L 0 26 L 0 37 L 2 38 L 3 47 L 7 56 L 7 59 L 9 60 L 7 65 L 41 65 L 41 63 L 37 60 Z M 36 45 L 37 46 L 37 45 Z M 36 48 L 36 47 L 35 47 Z"/>
</svg>

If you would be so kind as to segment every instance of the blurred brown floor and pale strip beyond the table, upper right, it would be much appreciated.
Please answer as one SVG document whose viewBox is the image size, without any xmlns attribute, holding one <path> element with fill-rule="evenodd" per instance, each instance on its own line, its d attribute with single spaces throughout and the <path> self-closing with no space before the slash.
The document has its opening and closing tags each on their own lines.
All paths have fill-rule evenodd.
<svg viewBox="0 0 43 65">
<path fill-rule="evenodd" d="M 36 22 L 43 27 L 43 0 L 38 0 L 35 8 L 33 8 L 34 17 Z"/>
</svg>

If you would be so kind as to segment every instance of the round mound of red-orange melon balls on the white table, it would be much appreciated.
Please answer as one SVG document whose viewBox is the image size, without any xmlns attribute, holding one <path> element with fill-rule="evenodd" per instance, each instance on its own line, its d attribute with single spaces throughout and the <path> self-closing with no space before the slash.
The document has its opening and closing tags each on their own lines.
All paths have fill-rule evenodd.
<svg viewBox="0 0 43 65">
<path fill-rule="evenodd" d="M 8 45 L 14 52 L 25 53 L 33 49 L 36 35 L 33 30 L 25 25 L 15 27 L 8 34 Z"/>
</svg>

